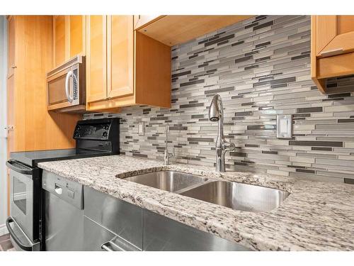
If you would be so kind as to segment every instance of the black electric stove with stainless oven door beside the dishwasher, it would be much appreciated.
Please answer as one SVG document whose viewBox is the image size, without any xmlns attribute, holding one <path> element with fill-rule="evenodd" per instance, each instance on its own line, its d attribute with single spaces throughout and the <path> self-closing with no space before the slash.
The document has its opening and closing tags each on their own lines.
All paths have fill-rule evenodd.
<svg viewBox="0 0 354 266">
<path fill-rule="evenodd" d="M 78 121 L 76 148 L 10 153 L 11 204 L 6 226 L 18 250 L 43 250 L 43 215 L 40 214 L 42 171 L 39 162 L 119 154 L 119 118 Z"/>
</svg>

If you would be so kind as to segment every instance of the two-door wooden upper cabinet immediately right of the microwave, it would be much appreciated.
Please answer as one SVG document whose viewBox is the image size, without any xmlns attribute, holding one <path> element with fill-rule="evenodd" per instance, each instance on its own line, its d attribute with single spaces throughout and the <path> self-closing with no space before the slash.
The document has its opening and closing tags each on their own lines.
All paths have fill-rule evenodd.
<svg viewBox="0 0 354 266">
<path fill-rule="evenodd" d="M 87 16 L 86 109 L 171 106 L 171 48 L 134 31 L 133 16 Z"/>
</svg>

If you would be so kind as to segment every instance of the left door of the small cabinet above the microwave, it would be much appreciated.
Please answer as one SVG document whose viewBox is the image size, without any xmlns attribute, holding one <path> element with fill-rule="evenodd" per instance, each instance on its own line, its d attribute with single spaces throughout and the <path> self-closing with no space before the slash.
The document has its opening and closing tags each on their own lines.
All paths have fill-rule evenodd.
<svg viewBox="0 0 354 266">
<path fill-rule="evenodd" d="M 58 65 L 65 62 L 67 59 L 67 48 L 65 37 L 66 28 L 66 16 L 53 16 L 53 38 L 54 38 L 54 65 Z"/>
</svg>

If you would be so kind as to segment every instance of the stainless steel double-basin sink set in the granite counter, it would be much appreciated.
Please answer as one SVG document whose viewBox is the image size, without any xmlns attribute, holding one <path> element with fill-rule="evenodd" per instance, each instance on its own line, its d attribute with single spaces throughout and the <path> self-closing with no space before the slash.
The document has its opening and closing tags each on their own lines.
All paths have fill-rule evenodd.
<svg viewBox="0 0 354 266">
<path fill-rule="evenodd" d="M 280 189 L 211 180 L 176 171 L 151 172 L 125 180 L 241 211 L 271 211 L 290 194 Z"/>
</svg>

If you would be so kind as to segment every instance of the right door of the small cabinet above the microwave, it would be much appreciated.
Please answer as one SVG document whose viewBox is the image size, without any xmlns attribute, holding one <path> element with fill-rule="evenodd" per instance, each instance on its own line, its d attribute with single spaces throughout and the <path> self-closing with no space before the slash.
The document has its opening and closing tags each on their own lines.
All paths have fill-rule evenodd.
<svg viewBox="0 0 354 266">
<path fill-rule="evenodd" d="M 69 58 L 85 55 L 85 16 L 69 16 Z"/>
</svg>

